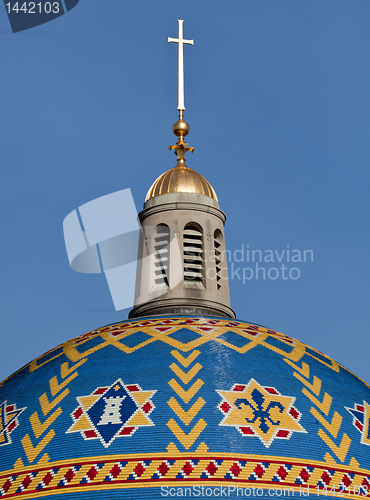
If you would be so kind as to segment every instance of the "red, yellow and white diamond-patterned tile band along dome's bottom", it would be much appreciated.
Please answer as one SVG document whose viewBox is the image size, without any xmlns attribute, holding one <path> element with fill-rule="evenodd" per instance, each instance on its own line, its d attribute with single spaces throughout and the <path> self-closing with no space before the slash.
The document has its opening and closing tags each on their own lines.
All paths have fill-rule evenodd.
<svg viewBox="0 0 370 500">
<path fill-rule="evenodd" d="M 10 472 L 0 477 L 0 498 L 39 498 L 76 491 L 111 488 L 147 488 L 195 484 L 258 487 L 300 491 L 311 488 L 315 494 L 370 498 L 370 475 L 348 466 L 295 461 L 266 461 L 219 456 L 163 456 L 51 463 L 39 469 Z"/>
</svg>

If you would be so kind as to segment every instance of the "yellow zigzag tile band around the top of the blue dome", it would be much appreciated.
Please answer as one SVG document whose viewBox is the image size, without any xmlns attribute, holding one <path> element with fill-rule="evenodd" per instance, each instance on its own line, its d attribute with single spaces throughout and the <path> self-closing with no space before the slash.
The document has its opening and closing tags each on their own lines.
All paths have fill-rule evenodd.
<svg viewBox="0 0 370 500">
<path fill-rule="evenodd" d="M 176 333 L 183 328 L 194 333 L 192 341 L 183 343 L 176 338 Z M 276 340 L 278 346 L 270 341 L 271 338 Z M 92 339 L 100 339 L 100 343 L 90 346 L 89 341 Z M 243 339 L 244 342 L 240 343 Z M 336 361 L 275 330 L 242 321 L 178 317 L 128 321 L 93 330 L 36 358 L 30 363 L 29 371 L 35 371 L 63 354 L 70 361 L 77 362 L 107 346 L 130 354 L 159 341 L 183 352 L 190 352 L 211 340 L 241 354 L 262 346 L 295 362 L 307 354 L 330 369 L 338 373 L 340 371 Z"/>
</svg>

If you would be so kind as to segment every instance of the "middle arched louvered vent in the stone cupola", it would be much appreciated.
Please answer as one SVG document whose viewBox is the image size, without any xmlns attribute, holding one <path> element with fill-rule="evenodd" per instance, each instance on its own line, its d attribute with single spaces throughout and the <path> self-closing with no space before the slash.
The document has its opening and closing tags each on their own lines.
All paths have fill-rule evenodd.
<svg viewBox="0 0 370 500">
<path fill-rule="evenodd" d="M 184 229 L 184 281 L 203 282 L 203 236 L 194 226 Z"/>
</svg>

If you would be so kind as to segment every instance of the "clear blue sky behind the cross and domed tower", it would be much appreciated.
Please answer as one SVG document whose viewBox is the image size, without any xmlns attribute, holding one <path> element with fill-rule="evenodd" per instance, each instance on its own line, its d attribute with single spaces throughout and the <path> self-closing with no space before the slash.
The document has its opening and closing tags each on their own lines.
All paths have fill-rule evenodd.
<svg viewBox="0 0 370 500">
<path fill-rule="evenodd" d="M 175 166 L 177 49 L 167 37 L 177 19 L 195 41 L 185 47 L 188 165 L 218 194 L 227 247 L 244 245 L 233 270 L 255 270 L 247 245 L 313 251 L 313 262 L 259 263 L 297 267 L 296 280 L 234 274 L 237 317 L 369 383 L 368 0 L 80 0 L 18 34 L 0 9 L 0 379 L 127 318 L 104 275 L 69 268 L 62 222 L 124 188 L 140 210 Z"/>
</svg>

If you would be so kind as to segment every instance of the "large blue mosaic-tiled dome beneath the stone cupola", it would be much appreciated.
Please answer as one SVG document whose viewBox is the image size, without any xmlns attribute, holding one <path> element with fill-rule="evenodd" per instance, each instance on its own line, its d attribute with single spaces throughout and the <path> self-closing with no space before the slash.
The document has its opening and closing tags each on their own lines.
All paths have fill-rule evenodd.
<svg viewBox="0 0 370 500">
<path fill-rule="evenodd" d="M 77 337 L 0 387 L 0 498 L 370 497 L 370 388 L 243 321 Z"/>
</svg>

